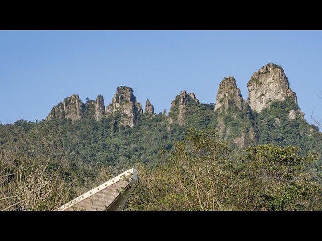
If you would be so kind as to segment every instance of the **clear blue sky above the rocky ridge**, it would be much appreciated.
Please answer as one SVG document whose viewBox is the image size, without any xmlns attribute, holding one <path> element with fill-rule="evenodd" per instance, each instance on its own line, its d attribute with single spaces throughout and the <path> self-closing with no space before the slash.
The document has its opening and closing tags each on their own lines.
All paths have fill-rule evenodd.
<svg viewBox="0 0 322 241">
<path fill-rule="evenodd" d="M 267 63 L 280 65 L 305 118 L 322 116 L 322 31 L 0 31 L 0 121 L 35 121 L 71 94 L 111 103 L 132 87 L 155 112 L 186 89 L 214 103 L 232 75 L 243 97 Z"/>
</svg>

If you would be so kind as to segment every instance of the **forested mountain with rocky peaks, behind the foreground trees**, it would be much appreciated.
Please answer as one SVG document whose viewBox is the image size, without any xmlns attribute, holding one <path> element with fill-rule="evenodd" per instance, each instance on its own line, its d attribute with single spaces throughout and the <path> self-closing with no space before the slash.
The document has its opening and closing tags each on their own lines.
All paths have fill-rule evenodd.
<svg viewBox="0 0 322 241">
<path fill-rule="evenodd" d="M 20 120 L 1 125 L 0 139 L 5 147 L 8 133 L 15 136 L 19 131 L 30 142 L 37 142 L 39 136 L 49 138 L 55 131 L 64 140 L 62 150 L 70 150 L 60 175 L 74 181 L 80 191 L 100 184 L 105 173 L 118 174 L 136 163 L 158 159 L 173 149 L 175 141 L 183 140 L 189 128 L 212 128 L 218 141 L 235 150 L 273 144 L 299 147 L 303 155 L 322 153 L 322 135 L 306 122 L 280 66 L 263 66 L 247 85 L 246 100 L 234 77 L 224 77 L 215 104 L 200 103 L 198 96 L 183 90 L 172 101 L 168 114 L 166 109 L 154 113 L 149 99 L 143 112 L 133 89 L 126 86 L 117 87 L 108 105 L 102 95 L 83 102 L 73 94 L 54 106 L 41 122 Z M 49 165 L 54 168 L 57 163 Z"/>
</svg>

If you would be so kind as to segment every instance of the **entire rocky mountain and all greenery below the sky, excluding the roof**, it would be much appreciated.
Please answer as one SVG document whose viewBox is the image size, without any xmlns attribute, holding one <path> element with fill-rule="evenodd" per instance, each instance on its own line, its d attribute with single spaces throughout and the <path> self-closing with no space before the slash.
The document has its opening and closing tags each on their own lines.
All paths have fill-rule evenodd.
<svg viewBox="0 0 322 241">
<path fill-rule="evenodd" d="M 224 78 L 215 104 L 184 90 L 167 115 L 119 86 L 108 105 L 75 94 L 40 122 L 0 124 L 0 209 L 52 210 L 135 167 L 128 210 L 320 210 L 318 127 L 280 66 L 248 87 L 246 101 Z"/>
</svg>

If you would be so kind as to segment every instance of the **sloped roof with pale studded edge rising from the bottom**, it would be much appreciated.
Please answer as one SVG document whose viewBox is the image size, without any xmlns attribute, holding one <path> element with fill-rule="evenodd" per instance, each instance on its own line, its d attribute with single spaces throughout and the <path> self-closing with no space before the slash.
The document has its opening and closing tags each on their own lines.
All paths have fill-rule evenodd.
<svg viewBox="0 0 322 241">
<path fill-rule="evenodd" d="M 57 210 L 123 210 L 137 182 L 136 170 L 131 168 L 65 203 Z"/>
</svg>

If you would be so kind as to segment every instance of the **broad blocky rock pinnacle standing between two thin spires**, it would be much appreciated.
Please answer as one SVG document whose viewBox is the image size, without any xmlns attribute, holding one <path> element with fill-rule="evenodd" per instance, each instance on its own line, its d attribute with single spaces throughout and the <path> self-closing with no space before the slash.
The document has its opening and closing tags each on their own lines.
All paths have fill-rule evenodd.
<svg viewBox="0 0 322 241">
<path fill-rule="evenodd" d="M 143 113 L 142 105 L 137 102 L 132 88 L 126 86 L 117 87 L 112 103 L 106 106 L 106 113 L 114 114 L 117 111 L 125 116 L 122 121 L 123 125 L 129 127 L 133 127 L 137 114 Z"/>
</svg>

